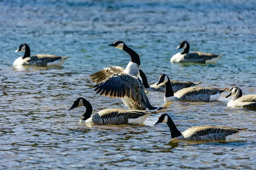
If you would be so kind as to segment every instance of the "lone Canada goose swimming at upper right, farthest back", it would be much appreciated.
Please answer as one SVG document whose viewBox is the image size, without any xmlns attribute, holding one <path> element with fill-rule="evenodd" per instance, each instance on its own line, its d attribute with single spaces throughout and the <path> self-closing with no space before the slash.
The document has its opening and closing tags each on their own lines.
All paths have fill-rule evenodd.
<svg viewBox="0 0 256 170">
<path fill-rule="evenodd" d="M 172 56 L 171 62 L 197 62 L 205 64 L 216 64 L 221 56 L 224 55 L 202 53 L 198 51 L 189 53 L 189 43 L 187 41 L 181 41 L 176 50 L 180 48 L 184 48 L 184 51 Z"/>
</svg>

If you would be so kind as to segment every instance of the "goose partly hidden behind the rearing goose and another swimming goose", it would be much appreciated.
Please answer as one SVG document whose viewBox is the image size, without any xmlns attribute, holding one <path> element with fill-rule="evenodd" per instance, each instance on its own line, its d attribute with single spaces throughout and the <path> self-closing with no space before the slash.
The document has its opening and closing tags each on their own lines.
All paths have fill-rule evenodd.
<svg viewBox="0 0 256 170">
<path fill-rule="evenodd" d="M 146 75 L 144 74 L 144 72 L 139 69 L 139 73 L 140 73 L 139 75 L 142 79 L 142 82 L 143 82 L 143 85 L 144 85 L 146 91 L 162 91 L 162 92 L 165 91 L 164 85 L 160 86 L 160 85 L 157 85 L 157 83 L 155 83 L 153 85 L 148 85 L 148 79 L 147 79 Z M 200 83 L 202 83 L 202 82 L 171 81 L 172 90 L 174 93 L 176 93 L 180 89 L 192 87 L 192 86 L 198 85 Z"/>
</svg>

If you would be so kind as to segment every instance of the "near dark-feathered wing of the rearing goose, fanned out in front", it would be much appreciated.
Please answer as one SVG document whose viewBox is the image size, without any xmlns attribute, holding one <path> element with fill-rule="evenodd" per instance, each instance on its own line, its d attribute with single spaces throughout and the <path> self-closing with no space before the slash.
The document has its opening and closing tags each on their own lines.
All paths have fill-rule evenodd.
<svg viewBox="0 0 256 170">
<path fill-rule="evenodd" d="M 141 80 L 136 76 L 125 73 L 113 74 L 99 84 L 93 86 L 97 94 L 131 99 L 135 105 L 144 102 L 145 92 Z"/>
</svg>

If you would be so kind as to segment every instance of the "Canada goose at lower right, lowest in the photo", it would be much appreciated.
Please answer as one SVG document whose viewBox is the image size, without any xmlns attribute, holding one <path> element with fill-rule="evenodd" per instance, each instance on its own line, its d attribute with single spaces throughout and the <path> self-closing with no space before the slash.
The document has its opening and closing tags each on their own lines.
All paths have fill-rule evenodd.
<svg viewBox="0 0 256 170">
<path fill-rule="evenodd" d="M 166 113 L 160 115 L 154 125 L 157 125 L 158 123 L 167 123 L 171 131 L 172 140 L 186 140 L 193 142 L 217 142 L 233 140 L 239 136 L 241 130 L 246 130 L 246 128 L 206 125 L 190 127 L 189 129 L 180 133 L 172 121 L 172 118 Z"/>
</svg>

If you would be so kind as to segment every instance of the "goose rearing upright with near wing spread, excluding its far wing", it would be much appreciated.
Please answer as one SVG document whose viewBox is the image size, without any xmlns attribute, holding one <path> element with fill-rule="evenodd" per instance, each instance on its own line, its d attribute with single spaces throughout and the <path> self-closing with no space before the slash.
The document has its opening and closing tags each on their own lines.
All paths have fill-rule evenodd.
<svg viewBox="0 0 256 170">
<path fill-rule="evenodd" d="M 122 102 L 131 110 L 160 110 L 150 104 L 145 94 L 142 81 L 137 77 L 140 67 L 140 56 L 124 42 L 116 41 L 113 46 L 127 52 L 131 61 L 123 72 L 112 74 L 110 77 L 94 85 L 97 94 L 121 98 Z"/>
</svg>

